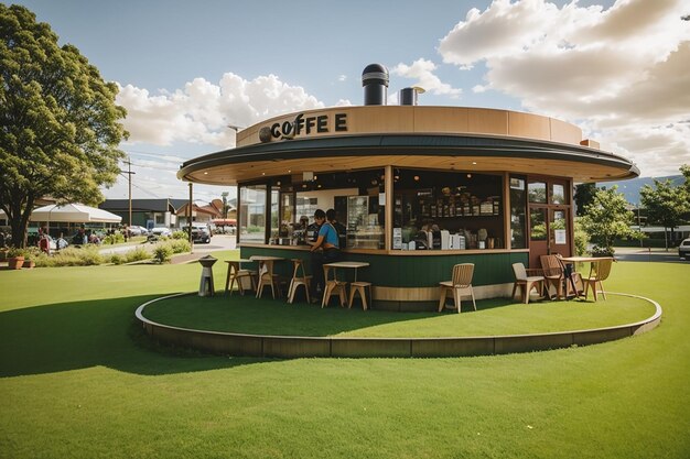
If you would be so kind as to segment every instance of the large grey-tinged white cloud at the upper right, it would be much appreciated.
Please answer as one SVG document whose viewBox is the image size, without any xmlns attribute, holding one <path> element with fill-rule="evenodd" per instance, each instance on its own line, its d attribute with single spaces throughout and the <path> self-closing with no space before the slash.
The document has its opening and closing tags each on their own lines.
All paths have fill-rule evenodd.
<svg viewBox="0 0 690 459">
<path fill-rule="evenodd" d="M 579 122 L 636 161 L 643 175 L 690 163 L 690 8 L 683 0 L 621 0 L 558 8 L 496 0 L 441 40 L 445 63 L 484 61 L 486 84 L 538 113 Z"/>
</svg>

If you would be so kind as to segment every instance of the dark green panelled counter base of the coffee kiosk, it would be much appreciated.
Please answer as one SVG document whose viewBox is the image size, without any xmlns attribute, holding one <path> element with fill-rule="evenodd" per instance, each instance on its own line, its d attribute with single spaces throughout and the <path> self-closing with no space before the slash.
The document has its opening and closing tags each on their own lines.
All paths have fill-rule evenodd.
<svg viewBox="0 0 690 459">
<path fill-rule="evenodd" d="M 274 255 L 285 259 L 301 258 L 305 261 L 308 272 L 310 266 L 310 252 L 284 250 L 279 248 L 241 248 L 241 258 L 251 255 Z M 371 282 L 378 286 L 389 287 L 429 287 L 438 286 L 441 281 L 449 281 L 453 265 L 457 263 L 474 263 L 474 278 L 472 284 L 494 285 L 515 281 L 513 263 L 528 265 L 527 252 L 509 253 L 482 253 L 457 254 L 449 253 L 439 255 L 401 256 L 386 254 L 344 253 L 344 260 L 367 262 L 368 267 L 358 270 L 357 278 Z M 274 271 L 283 276 L 292 275 L 292 263 L 276 263 Z M 353 270 L 343 271 L 352 281 Z"/>
</svg>

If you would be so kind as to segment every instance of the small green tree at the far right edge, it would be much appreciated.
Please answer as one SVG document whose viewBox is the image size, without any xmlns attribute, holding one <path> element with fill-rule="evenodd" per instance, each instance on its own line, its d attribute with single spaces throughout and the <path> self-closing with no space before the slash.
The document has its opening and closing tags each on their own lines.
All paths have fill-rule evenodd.
<svg viewBox="0 0 690 459">
<path fill-rule="evenodd" d="M 681 171 L 683 175 L 687 173 L 682 167 Z M 671 230 L 671 240 L 675 239 L 673 229 L 682 223 L 683 215 L 690 211 L 688 189 L 684 185 L 673 186 L 670 179 L 655 179 L 654 188 L 645 185 L 639 190 L 642 203 L 647 209 L 647 221 L 664 227 L 666 250 L 668 250 L 668 230 Z"/>
</svg>

